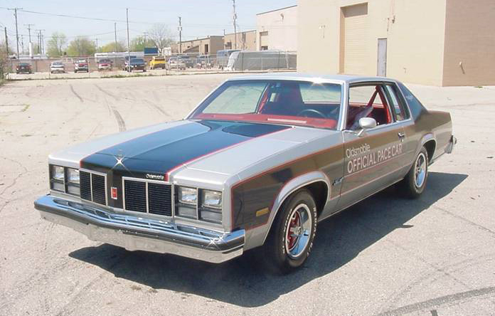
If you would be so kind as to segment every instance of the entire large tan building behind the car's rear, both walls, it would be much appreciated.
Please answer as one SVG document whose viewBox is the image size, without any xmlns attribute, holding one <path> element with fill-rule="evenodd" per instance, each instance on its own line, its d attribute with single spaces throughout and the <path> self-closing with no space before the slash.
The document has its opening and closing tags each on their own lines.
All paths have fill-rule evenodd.
<svg viewBox="0 0 495 316">
<path fill-rule="evenodd" d="M 299 71 L 495 85 L 494 0 L 299 0 Z"/>
</svg>

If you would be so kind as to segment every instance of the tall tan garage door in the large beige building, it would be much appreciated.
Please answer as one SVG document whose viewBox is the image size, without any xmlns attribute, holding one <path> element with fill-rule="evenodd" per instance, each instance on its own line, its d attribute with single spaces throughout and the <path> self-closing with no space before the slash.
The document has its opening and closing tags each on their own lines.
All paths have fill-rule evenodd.
<svg viewBox="0 0 495 316">
<path fill-rule="evenodd" d="M 368 4 L 346 6 L 344 12 L 344 73 L 366 73 L 366 32 Z"/>
</svg>

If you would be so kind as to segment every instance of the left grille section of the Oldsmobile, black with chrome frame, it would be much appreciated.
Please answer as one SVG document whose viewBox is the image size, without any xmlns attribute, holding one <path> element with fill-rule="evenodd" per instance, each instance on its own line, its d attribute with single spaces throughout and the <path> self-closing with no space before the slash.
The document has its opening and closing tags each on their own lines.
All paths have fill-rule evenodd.
<svg viewBox="0 0 495 316">
<path fill-rule="evenodd" d="M 107 205 L 107 177 L 105 174 L 79 171 L 81 199 Z"/>
</svg>

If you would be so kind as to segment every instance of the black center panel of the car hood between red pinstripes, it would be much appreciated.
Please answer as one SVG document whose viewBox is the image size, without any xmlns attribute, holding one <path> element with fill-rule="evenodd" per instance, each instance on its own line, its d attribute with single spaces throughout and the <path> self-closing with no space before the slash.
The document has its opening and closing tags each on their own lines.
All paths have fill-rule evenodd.
<svg viewBox="0 0 495 316">
<path fill-rule="evenodd" d="M 191 121 L 95 152 L 82 159 L 80 166 L 98 172 L 113 171 L 124 177 L 164 175 L 192 159 L 287 128 L 245 122 Z"/>
</svg>

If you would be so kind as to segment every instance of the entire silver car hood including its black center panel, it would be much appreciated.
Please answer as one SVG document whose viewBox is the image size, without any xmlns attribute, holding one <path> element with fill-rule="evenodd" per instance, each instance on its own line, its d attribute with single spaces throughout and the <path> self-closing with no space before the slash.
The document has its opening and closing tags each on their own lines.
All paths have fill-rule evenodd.
<svg viewBox="0 0 495 316">
<path fill-rule="evenodd" d="M 251 122 L 184 120 L 79 144 L 50 155 L 50 163 L 121 177 L 167 179 L 193 171 L 225 178 L 328 132 Z"/>
</svg>

